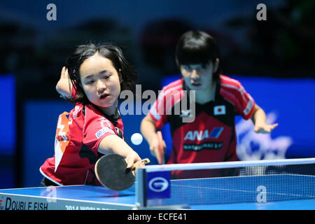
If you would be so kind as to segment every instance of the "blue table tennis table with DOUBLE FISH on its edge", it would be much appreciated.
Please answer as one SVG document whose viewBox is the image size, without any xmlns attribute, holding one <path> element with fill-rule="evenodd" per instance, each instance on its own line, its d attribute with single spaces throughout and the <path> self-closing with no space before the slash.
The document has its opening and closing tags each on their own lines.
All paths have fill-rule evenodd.
<svg viewBox="0 0 315 224">
<path fill-rule="evenodd" d="M 272 179 L 272 181 L 270 181 Z M 277 189 L 295 183 L 290 188 Z M 315 176 L 271 175 L 235 176 L 210 179 L 172 180 L 167 199 L 148 200 L 147 207 L 137 202 L 136 184 L 123 191 L 101 186 L 51 186 L 0 190 L 0 209 L 13 210 L 103 210 L 103 209 L 195 209 L 195 210 L 286 210 L 315 209 L 314 195 L 299 192 L 307 181 L 314 192 Z M 198 182 L 196 185 L 195 183 Z M 275 184 L 274 183 L 278 183 Z M 258 202 L 259 188 L 267 189 L 265 201 Z M 308 194 L 308 193 L 307 193 Z M 288 197 L 289 195 L 289 197 Z M 271 197 L 273 200 L 271 200 Z M 163 202 L 163 203 L 162 203 Z"/>
</svg>

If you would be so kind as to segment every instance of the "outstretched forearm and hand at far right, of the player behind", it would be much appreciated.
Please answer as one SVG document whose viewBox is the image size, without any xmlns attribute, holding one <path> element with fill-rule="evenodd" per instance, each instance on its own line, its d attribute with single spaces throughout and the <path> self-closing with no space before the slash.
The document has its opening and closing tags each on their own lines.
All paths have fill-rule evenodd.
<svg viewBox="0 0 315 224">
<path fill-rule="evenodd" d="M 256 133 L 270 133 L 276 126 L 278 126 L 277 123 L 273 125 L 266 124 L 266 113 L 257 104 L 255 104 L 255 109 L 253 111 L 253 115 L 251 116 L 251 120 L 255 125 L 254 132 Z"/>
</svg>

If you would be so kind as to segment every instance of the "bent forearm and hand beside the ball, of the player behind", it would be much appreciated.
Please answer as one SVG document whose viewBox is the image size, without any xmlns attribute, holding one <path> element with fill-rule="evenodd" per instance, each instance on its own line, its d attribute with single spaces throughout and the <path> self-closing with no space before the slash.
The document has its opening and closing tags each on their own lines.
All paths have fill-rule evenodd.
<svg viewBox="0 0 315 224">
<path fill-rule="evenodd" d="M 156 157 L 159 155 L 159 139 L 157 134 L 157 129 L 155 125 L 155 120 L 151 118 L 150 114 L 141 121 L 140 126 L 141 134 L 144 136 L 146 141 L 148 141 L 148 145 L 151 151 L 151 154 Z M 163 147 L 166 147 L 165 141 L 163 141 Z M 158 162 L 162 164 L 162 158 L 157 158 Z"/>
</svg>

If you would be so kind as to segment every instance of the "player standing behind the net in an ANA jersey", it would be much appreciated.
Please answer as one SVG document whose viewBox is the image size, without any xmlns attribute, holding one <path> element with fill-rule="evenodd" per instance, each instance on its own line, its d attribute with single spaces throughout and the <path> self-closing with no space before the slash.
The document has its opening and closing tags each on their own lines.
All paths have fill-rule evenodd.
<svg viewBox="0 0 315 224">
<path fill-rule="evenodd" d="M 173 140 L 168 164 L 237 160 L 237 115 L 246 120 L 251 118 L 258 133 L 269 133 L 278 125 L 267 125 L 265 112 L 241 83 L 220 73 L 218 45 L 209 34 L 203 31 L 183 34 L 176 46 L 176 63 L 181 79 L 162 88 L 141 121 L 141 133 L 153 155 L 158 155 L 156 130 L 166 123 L 170 124 Z M 183 123 L 187 114 L 181 111 L 176 115 L 174 108 L 181 103 L 183 92 L 188 94 L 189 90 L 195 90 L 195 120 Z M 176 178 L 187 177 L 180 171 L 173 174 Z"/>
</svg>

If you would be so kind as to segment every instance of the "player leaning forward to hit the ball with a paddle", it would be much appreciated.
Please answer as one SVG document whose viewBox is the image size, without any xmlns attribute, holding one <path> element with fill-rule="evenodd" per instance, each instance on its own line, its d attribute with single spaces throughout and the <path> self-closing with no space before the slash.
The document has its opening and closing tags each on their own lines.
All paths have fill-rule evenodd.
<svg viewBox="0 0 315 224">
<path fill-rule="evenodd" d="M 55 155 L 40 168 L 41 186 L 100 185 L 94 165 L 102 155 L 122 155 L 128 168 L 141 160 L 123 140 L 118 111 L 120 91 L 134 89 L 137 73 L 120 48 L 109 43 L 79 45 L 66 68 L 57 91 L 76 106 L 58 118 Z"/>
</svg>

